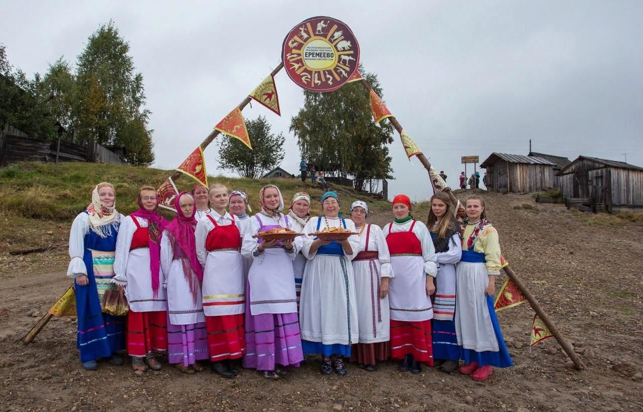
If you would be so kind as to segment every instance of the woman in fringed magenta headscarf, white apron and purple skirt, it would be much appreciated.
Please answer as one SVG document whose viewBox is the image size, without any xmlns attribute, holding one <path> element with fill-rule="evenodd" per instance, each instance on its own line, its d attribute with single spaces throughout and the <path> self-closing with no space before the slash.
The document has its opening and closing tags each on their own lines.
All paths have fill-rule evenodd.
<svg viewBox="0 0 643 412">
<path fill-rule="evenodd" d="M 208 336 L 201 302 L 203 268 L 197 259 L 194 197 L 181 192 L 174 200 L 178 215 L 161 238 L 161 269 L 168 303 L 168 358 L 183 373 L 203 372 L 197 361 L 208 359 Z"/>
</svg>

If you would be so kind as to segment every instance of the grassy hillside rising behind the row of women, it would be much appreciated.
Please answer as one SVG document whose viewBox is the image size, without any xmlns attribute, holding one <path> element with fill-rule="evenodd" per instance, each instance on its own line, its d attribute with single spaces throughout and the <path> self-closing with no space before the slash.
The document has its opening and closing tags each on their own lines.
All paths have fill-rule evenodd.
<svg viewBox="0 0 643 412">
<path fill-rule="evenodd" d="M 157 187 L 170 174 L 171 170 L 95 163 L 17 163 L 0 168 L 0 211 L 30 219 L 71 220 L 87 207 L 95 185 L 108 181 L 116 187 L 116 208 L 127 214 L 138 209 L 136 194 L 140 186 L 150 184 Z M 260 210 L 259 189 L 271 183 L 282 190 L 287 206 L 294 193 L 304 191 L 313 199 L 311 213 L 321 213 L 320 204 L 316 201 L 323 193 L 319 185 L 288 179 L 208 177 L 208 183 L 215 182 L 225 184 L 228 190 L 241 189 L 248 193 L 253 211 Z M 176 184 L 179 190 L 191 190 L 195 181 L 184 175 L 177 179 Z M 367 201 L 374 211 L 390 205 L 389 202 L 365 198 L 345 186 L 331 184 L 331 190 L 340 193 L 345 213 L 356 199 Z"/>
</svg>

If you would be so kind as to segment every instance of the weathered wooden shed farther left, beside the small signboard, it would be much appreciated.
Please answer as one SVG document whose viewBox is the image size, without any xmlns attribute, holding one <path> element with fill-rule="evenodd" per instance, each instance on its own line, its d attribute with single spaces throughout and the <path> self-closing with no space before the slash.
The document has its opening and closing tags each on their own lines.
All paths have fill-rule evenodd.
<svg viewBox="0 0 643 412">
<path fill-rule="evenodd" d="M 493 152 L 480 165 L 490 192 L 531 193 L 554 186 L 554 163 L 538 156 Z"/>
</svg>

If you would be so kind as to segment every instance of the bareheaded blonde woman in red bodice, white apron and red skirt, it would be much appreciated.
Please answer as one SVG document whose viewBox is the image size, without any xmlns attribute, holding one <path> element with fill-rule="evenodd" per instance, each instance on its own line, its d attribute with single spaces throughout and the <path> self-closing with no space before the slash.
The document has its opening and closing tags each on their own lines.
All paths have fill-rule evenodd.
<svg viewBox="0 0 643 412">
<path fill-rule="evenodd" d="M 239 219 L 226 211 L 228 188 L 215 183 L 208 190 L 212 212 L 195 229 L 197 257 L 203 269 L 210 365 L 213 373 L 233 378 L 239 369 L 231 362 L 246 350 L 244 312 L 246 292 L 241 260 Z"/>
</svg>

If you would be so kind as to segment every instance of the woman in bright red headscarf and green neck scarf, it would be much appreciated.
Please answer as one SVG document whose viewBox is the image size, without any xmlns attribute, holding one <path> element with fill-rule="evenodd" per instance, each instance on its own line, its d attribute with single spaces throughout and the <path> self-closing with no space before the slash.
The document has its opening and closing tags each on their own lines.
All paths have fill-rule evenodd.
<svg viewBox="0 0 643 412">
<path fill-rule="evenodd" d="M 421 363 L 433 366 L 431 294 L 437 265 L 429 230 L 410 213 L 408 196 L 395 196 L 394 220 L 383 229 L 395 273 L 388 285 L 391 357 L 401 359 L 400 371 L 421 373 Z"/>
</svg>

